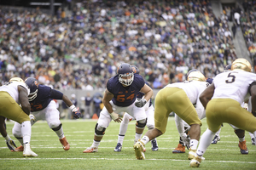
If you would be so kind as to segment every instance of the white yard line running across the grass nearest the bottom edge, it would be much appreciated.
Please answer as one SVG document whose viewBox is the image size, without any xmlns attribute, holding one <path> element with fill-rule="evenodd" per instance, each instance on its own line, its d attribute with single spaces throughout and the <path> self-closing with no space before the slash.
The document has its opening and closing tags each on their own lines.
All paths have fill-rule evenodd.
<svg viewBox="0 0 256 170">
<path fill-rule="evenodd" d="M 27 161 L 27 160 L 108 160 L 108 161 L 137 161 L 137 159 L 116 159 L 116 158 L 73 158 L 73 157 L 67 157 L 67 158 L 63 158 L 63 157 L 55 157 L 55 158 L 0 158 L 0 160 L 21 160 L 21 161 Z M 177 159 L 146 159 L 145 161 L 189 161 L 189 160 L 177 160 Z M 216 162 L 216 161 L 213 161 Z M 252 164 L 256 164 L 256 162 L 253 161 L 217 161 L 220 163 L 252 163 Z"/>
</svg>

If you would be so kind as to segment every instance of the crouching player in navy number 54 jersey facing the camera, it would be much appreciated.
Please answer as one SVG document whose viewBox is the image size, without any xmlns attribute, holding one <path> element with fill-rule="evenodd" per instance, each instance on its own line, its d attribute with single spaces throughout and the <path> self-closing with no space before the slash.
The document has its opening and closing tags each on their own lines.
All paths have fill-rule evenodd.
<svg viewBox="0 0 256 170">
<path fill-rule="evenodd" d="M 145 84 L 142 76 L 133 74 L 132 67 L 123 63 L 119 65 L 118 74 L 107 82 L 103 96 L 104 108 L 95 127 L 93 144 L 84 153 L 98 151 L 98 146 L 103 138 L 106 128 L 113 119 L 121 122 L 119 113 L 124 111 L 137 120 L 136 133 L 142 135 L 147 124 L 147 116 L 143 106 L 153 96 L 153 90 Z M 137 94 L 142 92 L 144 99 L 137 99 Z"/>
</svg>

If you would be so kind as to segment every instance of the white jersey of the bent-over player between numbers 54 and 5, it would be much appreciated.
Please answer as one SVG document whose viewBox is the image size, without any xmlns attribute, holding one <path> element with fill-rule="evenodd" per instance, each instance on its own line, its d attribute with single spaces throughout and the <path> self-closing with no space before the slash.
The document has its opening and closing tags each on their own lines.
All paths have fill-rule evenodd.
<svg viewBox="0 0 256 170">
<path fill-rule="evenodd" d="M 194 105 L 197 102 L 202 91 L 204 91 L 209 86 L 208 82 L 199 81 L 185 81 L 185 82 L 175 82 L 168 84 L 165 88 L 181 88 L 185 91 L 189 97 L 191 103 Z"/>
</svg>

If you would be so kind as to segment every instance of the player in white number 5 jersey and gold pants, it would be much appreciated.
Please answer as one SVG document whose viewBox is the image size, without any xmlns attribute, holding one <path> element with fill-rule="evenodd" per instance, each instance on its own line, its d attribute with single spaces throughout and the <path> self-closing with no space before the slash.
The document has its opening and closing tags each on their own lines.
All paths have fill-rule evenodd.
<svg viewBox="0 0 256 170">
<path fill-rule="evenodd" d="M 200 100 L 206 108 L 208 128 L 201 136 L 196 155 L 190 161 L 190 167 L 199 167 L 201 157 L 223 122 L 254 132 L 254 136 L 256 135 L 256 114 L 252 114 L 256 111 L 256 75 L 250 71 L 252 66 L 247 59 L 236 59 L 232 63 L 231 71 L 218 74 L 212 85 L 201 94 Z M 241 107 L 244 100 L 247 100 L 248 92 L 252 95 L 252 113 Z"/>
</svg>

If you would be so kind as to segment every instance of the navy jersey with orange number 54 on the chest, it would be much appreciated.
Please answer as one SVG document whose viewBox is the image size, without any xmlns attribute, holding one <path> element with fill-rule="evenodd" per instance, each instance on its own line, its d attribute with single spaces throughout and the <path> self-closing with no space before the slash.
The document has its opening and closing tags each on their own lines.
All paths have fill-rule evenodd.
<svg viewBox="0 0 256 170">
<path fill-rule="evenodd" d="M 123 87 L 119 82 L 119 76 L 111 77 L 107 82 L 108 91 L 113 94 L 113 104 L 121 107 L 131 105 L 137 97 L 139 91 L 145 85 L 144 79 L 138 74 L 134 74 L 131 86 Z"/>
</svg>

